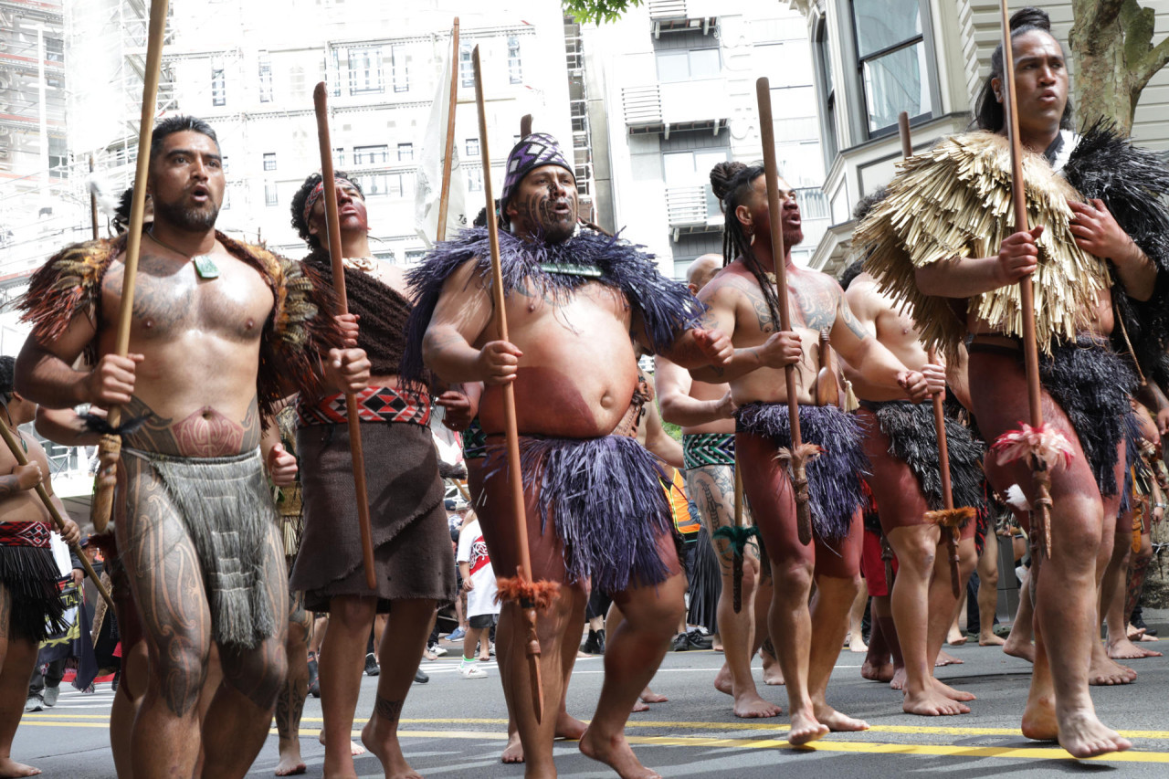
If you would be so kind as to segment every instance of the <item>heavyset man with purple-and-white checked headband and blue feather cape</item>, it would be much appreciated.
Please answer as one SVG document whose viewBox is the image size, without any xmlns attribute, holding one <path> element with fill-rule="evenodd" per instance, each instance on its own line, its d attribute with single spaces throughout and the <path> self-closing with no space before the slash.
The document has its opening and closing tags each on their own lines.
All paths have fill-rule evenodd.
<svg viewBox="0 0 1169 779">
<path fill-rule="evenodd" d="M 516 388 L 532 578 L 562 582 L 537 623 L 549 715 L 542 723 L 531 704 L 516 602 L 504 606 L 497 628 L 526 774 L 555 774 L 558 717 L 551 713 L 572 671 L 592 579 L 625 620 L 609 636 L 601 698 L 580 749 L 622 777 L 655 777 L 629 747 L 624 723 L 685 609 L 686 579 L 660 470 L 628 435 L 641 411 L 636 350 L 660 351 L 691 367 L 724 361 L 729 343 L 692 329 L 700 308 L 649 255 L 593 229 L 577 230 L 573 167 L 554 138 L 520 139 L 506 170 L 499 218 L 507 229 L 499 240 L 511 342 L 499 340 L 492 323 L 487 230 L 466 230 L 410 273 L 416 305 L 402 374 L 421 377 L 424 360 L 448 381 L 485 384 L 483 489 L 492 522 L 484 531 L 498 570 L 506 572 L 516 571 L 518 557 L 504 508 L 511 502 L 502 386 Z"/>
</svg>

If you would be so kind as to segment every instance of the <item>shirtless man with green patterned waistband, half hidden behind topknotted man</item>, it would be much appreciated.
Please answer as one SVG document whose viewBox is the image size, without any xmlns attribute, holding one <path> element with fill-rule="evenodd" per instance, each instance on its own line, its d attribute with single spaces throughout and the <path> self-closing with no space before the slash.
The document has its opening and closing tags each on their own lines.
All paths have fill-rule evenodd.
<svg viewBox="0 0 1169 779">
<path fill-rule="evenodd" d="M 705 254 L 686 269 L 686 285 L 697 295 L 722 268 L 722 257 Z M 707 384 L 660 354 L 653 358 L 662 419 L 682 426 L 682 446 L 690 499 L 713 536 L 734 523 L 734 404 L 726 384 Z M 743 510 L 750 522 L 750 515 Z M 733 552 L 726 540 L 712 539 L 719 553 L 722 591 L 718 623 L 726 662 L 714 678 L 715 689 L 734 697 L 736 717 L 776 717 L 780 706 L 759 695 L 750 675 L 750 660 L 767 637 L 767 609 L 772 605 L 770 579 L 759 564 L 759 544 L 743 550 L 742 608 L 734 611 Z"/>
</svg>

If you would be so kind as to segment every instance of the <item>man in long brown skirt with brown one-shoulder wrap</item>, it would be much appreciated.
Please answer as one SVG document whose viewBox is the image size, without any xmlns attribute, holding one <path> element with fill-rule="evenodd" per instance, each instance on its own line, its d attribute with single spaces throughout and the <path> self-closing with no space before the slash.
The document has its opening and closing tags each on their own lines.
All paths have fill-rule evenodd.
<svg viewBox="0 0 1169 779">
<path fill-rule="evenodd" d="M 360 320 L 358 346 L 371 361 L 369 387 L 358 402 L 378 586 L 368 590 L 361 564 L 345 395 L 302 393 L 297 451 L 303 466 L 304 537 L 292 587 L 304 591 L 305 608 L 330 613 L 318 661 L 330 777 L 355 775 L 350 732 L 366 639 L 376 614 L 389 613 L 374 711 L 361 740 L 381 760 L 387 777 L 407 775 L 410 767 L 397 742 L 397 722 L 435 608 L 455 599 L 455 560 L 430 437 L 430 388 L 407 387 L 397 378 L 411 309 L 404 274 L 373 256 L 365 195 L 345 173 L 334 173 L 327 182 L 313 173 L 292 198 L 292 226 L 311 249 L 304 263 L 332 282 L 328 248 L 320 240 L 327 235 L 326 186 L 337 192 L 350 313 Z"/>
</svg>

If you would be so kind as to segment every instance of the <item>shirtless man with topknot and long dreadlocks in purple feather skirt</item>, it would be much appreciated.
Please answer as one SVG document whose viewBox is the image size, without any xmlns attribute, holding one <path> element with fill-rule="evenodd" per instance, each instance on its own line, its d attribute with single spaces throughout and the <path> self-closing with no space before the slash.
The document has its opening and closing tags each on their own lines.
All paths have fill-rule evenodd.
<svg viewBox="0 0 1169 779">
<path fill-rule="evenodd" d="M 848 613 L 860 586 L 860 474 L 867 463 L 859 422 L 838 406 L 816 405 L 816 375 L 826 354 L 822 333 L 873 386 L 920 401 L 929 391 L 918 371 L 905 367 L 869 337 L 830 276 L 797 268 L 791 247 L 803 240 L 800 206 L 782 179 L 783 246 L 793 332 L 779 331 L 772 260 L 770 215 L 762 166 L 720 163 L 711 171 L 726 219 L 725 267 L 701 291 L 710 306 L 705 324 L 734 333 L 734 357 L 725 368 L 691 371 L 696 379 L 726 381 L 739 409 L 735 450 L 743 490 L 772 563 L 768 628 L 788 688 L 791 731 L 805 744 L 829 730 L 864 730 L 867 724 L 836 711 L 825 699 Z M 812 535 L 804 546 L 796 533 L 796 506 L 787 469 L 776 461 L 790 447 L 783 368 L 795 365 L 804 441 L 824 451 L 808 467 Z M 830 368 L 831 370 L 831 368 Z M 812 577 L 816 599 L 808 598 Z M 815 653 L 811 652 L 816 647 Z"/>
</svg>

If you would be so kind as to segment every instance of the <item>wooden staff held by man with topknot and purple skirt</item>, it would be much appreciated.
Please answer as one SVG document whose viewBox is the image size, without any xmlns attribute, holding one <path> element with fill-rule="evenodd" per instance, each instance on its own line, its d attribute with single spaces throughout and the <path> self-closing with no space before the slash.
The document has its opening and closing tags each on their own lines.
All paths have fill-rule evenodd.
<svg viewBox="0 0 1169 779">
<path fill-rule="evenodd" d="M 767 180 L 767 207 L 772 222 L 772 261 L 775 266 L 776 297 L 780 305 L 780 330 L 791 330 L 788 311 L 788 269 L 783 251 L 783 226 L 780 221 L 779 168 L 775 163 L 775 126 L 772 123 L 772 85 L 767 76 L 755 82 L 759 101 L 759 130 L 763 139 L 763 175 Z M 800 401 L 796 398 L 796 366 L 787 365 L 783 378 L 788 391 L 788 418 L 791 426 L 791 448 L 780 449 L 777 460 L 786 461 L 791 469 L 791 489 L 796 498 L 796 524 L 800 543 L 811 543 L 811 508 L 808 505 L 808 461 L 819 454 L 814 443 L 804 443 L 800 435 Z"/>
</svg>

